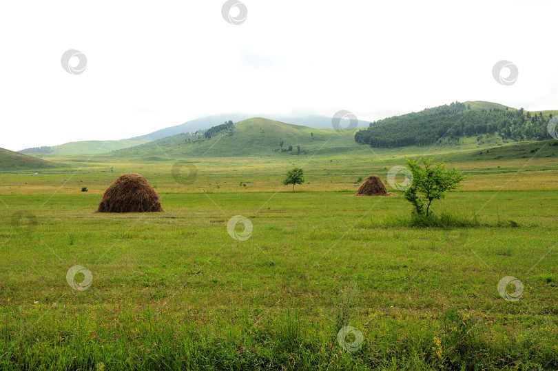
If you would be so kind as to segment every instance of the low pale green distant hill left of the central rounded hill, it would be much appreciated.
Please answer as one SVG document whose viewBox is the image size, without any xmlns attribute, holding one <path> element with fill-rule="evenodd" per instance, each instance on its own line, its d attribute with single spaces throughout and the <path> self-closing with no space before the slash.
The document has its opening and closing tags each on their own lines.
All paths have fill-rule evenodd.
<svg viewBox="0 0 558 371">
<path fill-rule="evenodd" d="M 18 151 L 23 154 L 94 154 L 107 153 L 138 144 L 147 143 L 149 139 L 121 139 L 119 141 L 74 141 L 51 147 L 25 148 Z"/>
</svg>

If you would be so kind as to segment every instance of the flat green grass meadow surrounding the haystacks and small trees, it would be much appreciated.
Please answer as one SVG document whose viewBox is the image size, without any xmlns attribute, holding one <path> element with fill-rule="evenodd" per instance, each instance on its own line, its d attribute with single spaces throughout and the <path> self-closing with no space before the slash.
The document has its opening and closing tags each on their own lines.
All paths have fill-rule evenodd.
<svg viewBox="0 0 558 371">
<path fill-rule="evenodd" d="M 558 368 L 552 157 L 449 162 L 471 177 L 433 209 L 479 226 L 448 229 L 398 225 L 401 196 L 351 197 L 358 177 L 404 164 L 387 151 L 196 159 L 187 183 L 174 161 L 67 160 L 0 174 L 0 369 Z M 293 166 L 296 192 L 281 185 Z M 165 212 L 94 213 L 124 172 Z M 227 231 L 236 215 L 245 241 Z M 68 283 L 74 265 L 87 290 Z M 507 276 L 519 301 L 497 290 Z M 362 333 L 355 352 L 345 325 Z"/>
</svg>

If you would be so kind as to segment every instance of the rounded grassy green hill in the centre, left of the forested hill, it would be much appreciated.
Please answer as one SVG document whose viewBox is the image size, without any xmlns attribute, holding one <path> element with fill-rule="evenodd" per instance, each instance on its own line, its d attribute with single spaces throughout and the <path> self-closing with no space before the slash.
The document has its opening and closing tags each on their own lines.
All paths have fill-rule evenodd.
<svg viewBox="0 0 558 371">
<path fill-rule="evenodd" d="M 240 121 L 234 124 L 233 130 L 223 130 L 212 135 L 207 139 L 203 133 L 193 137 L 177 134 L 105 156 L 174 159 L 203 156 L 296 156 L 312 154 L 318 149 L 320 154 L 342 153 L 347 150 L 369 152 L 365 146 L 355 144 L 351 133 L 342 134 L 333 129 L 308 128 L 260 117 Z M 289 146 L 292 147 L 291 150 Z"/>
</svg>

